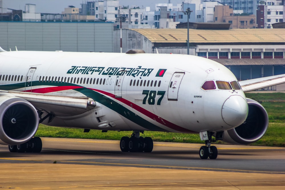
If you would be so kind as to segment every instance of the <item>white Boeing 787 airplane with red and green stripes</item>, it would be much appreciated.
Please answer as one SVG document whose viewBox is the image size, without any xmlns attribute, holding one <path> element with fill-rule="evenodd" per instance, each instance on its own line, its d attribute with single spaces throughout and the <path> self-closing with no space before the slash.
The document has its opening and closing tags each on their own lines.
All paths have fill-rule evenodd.
<svg viewBox="0 0 285 190">
<path fill-rule="evenodd" d="M 201 159 L 216 159 L 211 143 L 250 144 L 268 115 L 245 93 L 285 82 L 285 74 L 238 81 L 225 66 L 193 55 L 5 51 L 0 48 L 0 144 L 10 152 L 40 152 L 38 124 L 133 131 L 123 152 L 152 152 L 144 131 L 196 133 Z"/>
</svg>

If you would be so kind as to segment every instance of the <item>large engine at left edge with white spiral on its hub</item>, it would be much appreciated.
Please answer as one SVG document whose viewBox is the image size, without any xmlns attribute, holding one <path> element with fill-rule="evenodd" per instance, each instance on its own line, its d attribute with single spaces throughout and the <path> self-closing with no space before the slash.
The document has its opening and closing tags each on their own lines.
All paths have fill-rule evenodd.
<svg viewBox="0 0 285 190">
<path fill-rule="evenodd" d="M 31 103 L 9 93 L 0 93 L 0 144 L 27 142 L 38 130 L 38 124 L 38 113 Z"/>
</svg>

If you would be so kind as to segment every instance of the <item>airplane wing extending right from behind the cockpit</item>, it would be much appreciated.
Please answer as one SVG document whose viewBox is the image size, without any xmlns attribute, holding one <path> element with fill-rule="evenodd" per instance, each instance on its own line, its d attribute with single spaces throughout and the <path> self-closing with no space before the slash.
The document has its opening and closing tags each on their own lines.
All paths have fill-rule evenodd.
<svg viewBox="0 0 285 190">
<path fill-rule="evenodd" d="M 239 81 L 244 92 L 285 83 L 285 74 Z"/>
</svg>

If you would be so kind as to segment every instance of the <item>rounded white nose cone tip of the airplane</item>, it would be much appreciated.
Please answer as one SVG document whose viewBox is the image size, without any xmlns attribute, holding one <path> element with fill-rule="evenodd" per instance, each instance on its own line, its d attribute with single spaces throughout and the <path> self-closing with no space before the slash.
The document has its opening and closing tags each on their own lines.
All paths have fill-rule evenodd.
<svg viewBox="0 0 285 190">
<path fill-rule="evenodd" d="M 241 125 L 247 118 L 247 114 L 247 101 L 239 95 L 230 96 L 223 104 L 222 118 L 230 126 Z"/>
</svg>

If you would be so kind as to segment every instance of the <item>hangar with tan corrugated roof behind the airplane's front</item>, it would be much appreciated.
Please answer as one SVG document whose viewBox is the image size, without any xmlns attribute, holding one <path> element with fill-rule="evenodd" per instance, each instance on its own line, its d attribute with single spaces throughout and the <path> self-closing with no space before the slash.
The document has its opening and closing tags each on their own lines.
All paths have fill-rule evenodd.
<svg viewBox="0 0 285 190">
<path fill-rule="evenodd" d="M 285 29 L 189 29 L 190 55 L 213 59 L 239 80 L 285 73 Z M 122 52 L 187 54 L 187 29 L 122 29 Z M 114 31 L 120 52 L 120 30 Z M 191 63 L 189 63 L 191 64 Z"/>
</svg>

